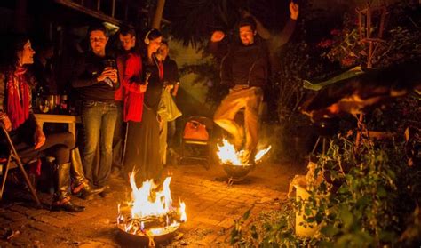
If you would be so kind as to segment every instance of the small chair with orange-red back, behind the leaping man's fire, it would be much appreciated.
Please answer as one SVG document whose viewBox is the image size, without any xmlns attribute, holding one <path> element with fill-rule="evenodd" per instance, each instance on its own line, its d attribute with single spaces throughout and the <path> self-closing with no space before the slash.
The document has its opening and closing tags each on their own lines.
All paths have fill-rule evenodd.
<svg viewBox="0 0 421 248">
<path fill-rule="evenodd" d="M 191 116 L 187 119 L 181 137 L 179 164 L 190 161 L 204 162 L 205 169 L 211 164 L 211 134 L 213 121 L 204 116 Z"/>
</svg>

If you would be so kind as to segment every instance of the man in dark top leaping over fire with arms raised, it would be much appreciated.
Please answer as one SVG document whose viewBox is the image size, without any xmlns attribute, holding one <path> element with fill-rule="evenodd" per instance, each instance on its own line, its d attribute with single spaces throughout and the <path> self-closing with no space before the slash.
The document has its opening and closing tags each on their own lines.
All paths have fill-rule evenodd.
<svg viewBox="0 0 421 248">
<path fill-rule="evenodd" d="M 290 20 L 281 36 L 274 37 L 286 43 L 298 18 L 298 4 L 290 3 Z M 245 134 L 242 164 L 253 164 L 258 145 L 258 108 L 263 100 L 263 88 L 269 71 L 269 52 L 266 42 L 257 36 L 257 24 L 252 17 L 239 23 L 241 44 L 231 44 L 228 52 L 221 49 L 225 34 L 215 31 L 211 36 L 210 49 L 215 56 L 226 54 L 221 60 L 221 83 L 230 86 L 230 92 L 222 100 L 214 115 L 214 121 L 234 138 L 234 147 L 241 150 Z M 278 42 L 279 43 L 279 42 Z M 218 47 L 219 46 L 219 47 Z M 234 121 L 244 108 L 244 127 Z"/>
</svg>

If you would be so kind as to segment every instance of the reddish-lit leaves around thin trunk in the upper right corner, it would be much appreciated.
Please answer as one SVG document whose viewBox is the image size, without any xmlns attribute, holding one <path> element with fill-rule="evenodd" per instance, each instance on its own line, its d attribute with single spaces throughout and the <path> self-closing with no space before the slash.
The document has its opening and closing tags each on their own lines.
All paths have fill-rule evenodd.
<svg viewBox="0 0 421 248">
<path fill-rule="evenodd" d="M 421 56 L 421 6 L 407 1 L 397 1 L 387 6 L 383 42 L 375 44 L 373 67 L 387 67 L 402 60 Z M 369 44 L 361 43 L 357 15 L 346 13 L 343 27 L 332 29 L 330 37 L 318 44 L 324 50 L 322 56 L 338 61 L 344 68 L 367 65 Z M 402 17 L 405 17 L 402 19 Z M 373 20 L 370 33 L 378 32 L 378 23 Z M 364 31 L 364 29 L 362 29 Z"/>
</svg>

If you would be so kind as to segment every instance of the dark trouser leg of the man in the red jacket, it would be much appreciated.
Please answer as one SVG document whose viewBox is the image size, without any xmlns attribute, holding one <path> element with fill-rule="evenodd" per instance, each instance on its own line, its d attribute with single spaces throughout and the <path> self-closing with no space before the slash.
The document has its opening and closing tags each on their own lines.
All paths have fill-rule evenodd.
<svg viewBox="0 0 421 248">
<path fill-rule="evenodd" d="M 112 166 L 122 170 L 123 147 L 126 134 L 126 124 L 123 122 L 123 101 L 117 101 L 117 116 L 115 120 L 113 138 L 113 164 Z"/>
</svg>

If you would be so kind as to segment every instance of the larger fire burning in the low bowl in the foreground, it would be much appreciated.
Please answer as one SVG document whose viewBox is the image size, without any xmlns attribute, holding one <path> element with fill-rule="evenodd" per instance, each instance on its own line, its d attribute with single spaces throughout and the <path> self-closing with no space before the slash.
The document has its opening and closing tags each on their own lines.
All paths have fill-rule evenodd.
<svg viewBox="0 0 421 248">
<path fill-rule="evenodd" d="M 144 181 L 138 188 L 134 174 L 130 175 L 131 201 L 125 207 L 118 204 L 119 228 L 132 235 L 161 236 L 175 231 L 180 222 L 187 221 L 186 204 L 179 201 L 179 208 L 172 206 L 171 177 L 163 181 L 163 189 L 158 191 L 153 180 Z"/>
</svg>

